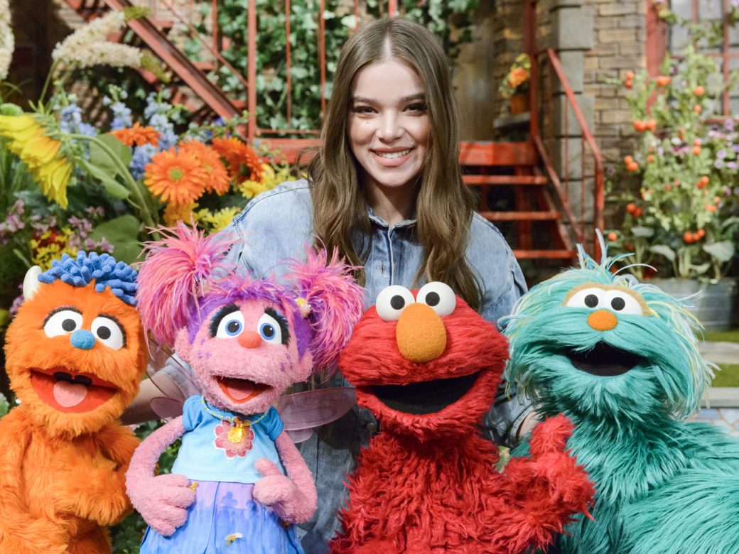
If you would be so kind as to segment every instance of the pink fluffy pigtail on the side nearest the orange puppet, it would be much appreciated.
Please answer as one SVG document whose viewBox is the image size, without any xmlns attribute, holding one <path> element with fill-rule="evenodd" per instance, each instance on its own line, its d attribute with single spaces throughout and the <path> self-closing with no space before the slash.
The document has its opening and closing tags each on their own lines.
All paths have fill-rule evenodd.
<svg viewBox="0 0 739 554">
<path fill-rule="evenodd" d="M 224 233 L 205 236 L 183 222 L 157 231 L 164 238 L 144 247 L 136 298 L 147 336 L 151 331 L 154 340 L 173 346 L 177 331 L 197 310 L 205 281 L 229 273 L 223 259 L 236 241 Z"/>
</svg>

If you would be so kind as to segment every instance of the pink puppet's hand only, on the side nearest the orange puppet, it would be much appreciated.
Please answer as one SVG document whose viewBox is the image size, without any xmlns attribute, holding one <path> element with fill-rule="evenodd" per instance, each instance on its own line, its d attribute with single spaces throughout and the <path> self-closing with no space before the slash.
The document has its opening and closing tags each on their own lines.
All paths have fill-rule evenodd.
<svg viewBox="0 0 739 554">
<path fill-rule="evenodd" d="M 131 502 L 157 533 L 171 536 L 187 521 L 187 508 L 195 500 L 195 490 L 184 475 L 170 473 L 149 477 L 135 489 L 129 486 Z"/>
</svg>

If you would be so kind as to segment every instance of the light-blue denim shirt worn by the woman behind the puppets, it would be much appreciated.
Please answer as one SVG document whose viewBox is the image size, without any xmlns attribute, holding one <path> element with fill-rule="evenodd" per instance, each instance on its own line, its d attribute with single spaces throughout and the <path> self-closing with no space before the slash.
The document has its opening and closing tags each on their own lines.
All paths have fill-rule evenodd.
<svg viewBox="0 0 739 554">
<path fill-rule="evenodd" d="M 390 227 L 371 210 L 369 219 L 372 237 L 365 264 L 366 307 L 374 304 L 378 293 L 391 284 L 411 288 L 425 283 L 423 280 L 413 283 L 423 261 L 423 247 L 414 233 L 415 219 Z M 229 256 L 242 270 L 256 277 L 283 273 L 279 262 L 302 257 L 305 244 L 312 244 L 314 240 L 313 204 L 308 183 L 305 180 L 284 182 L 259 194 L 223 232 L 235 233 L 239 239 Z M 358 250 L 361 240 L 361 236 L 353 237 Z M 477 213 L 471 220 L 466 259 L 482 288 L 480 313 L 491 322 L 508 315 L 515 301 L 525 293 L 525 281 L 500 231 Z M 330 384 L 347 383 L 340 375 L 335 375 Z M 528 400 L 517 397 L 509 400 L 501 387 L 483 423 L 483 432 L 498 444 L 515 442 L 516 431 L 529 406 Z M 316 513 L 301 526 L 303 533 L 300 535 L 307 553 L 327 551 L 327 541 L 340 527 L 336 510 L 345 502 L 344 482 L 354 469 L 355 456 L 377 431 L 378 423 L 372 415 L 355 406 L 341 419 L 324 425 L 309 440 L 299 443 L 298 448 L 316 479 L 319 495 Z"/>
</svg>

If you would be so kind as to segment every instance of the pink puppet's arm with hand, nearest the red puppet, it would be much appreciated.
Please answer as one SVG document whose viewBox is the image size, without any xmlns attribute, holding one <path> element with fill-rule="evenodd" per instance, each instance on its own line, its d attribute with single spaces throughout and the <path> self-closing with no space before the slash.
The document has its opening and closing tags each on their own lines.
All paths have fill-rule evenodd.
<svg viewBox="0 0 739 554">
<path fill-rule="evenodd" d="M 287 433 L 280 433 L 275 445 L 287 476 L 268 459 L 257 460 L 256 468 L 263 477 L 254 485 L 254 499 L 271 507 L 284 521 L 302 523 L 316 511 L 318 495 L 313 474 Z"/>
</svg>

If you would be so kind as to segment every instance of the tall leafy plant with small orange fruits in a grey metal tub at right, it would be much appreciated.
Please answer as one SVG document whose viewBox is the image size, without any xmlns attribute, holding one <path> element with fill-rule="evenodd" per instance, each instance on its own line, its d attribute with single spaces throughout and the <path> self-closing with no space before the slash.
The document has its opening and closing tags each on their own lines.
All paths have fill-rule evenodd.
<svg viewBox="0 0 739 554">
<path fill-rule="evenodd" d="M 739 236 L 739 132 L 731 117 L 715 116 L 721 70 L 694 43 L 681 58 L 667 57 L 655 78 L 627 72 L 616 82 L 637 137 L 610 179 L 623 222 L 607 233 L 609 249 L 633 253 L 629 270 L 658 276 L 655 284 L 675 296 L 700 292 L 695 315 L 706 329 L 726 329 L 737 294 L 729 275 Z"/>
</svg>

